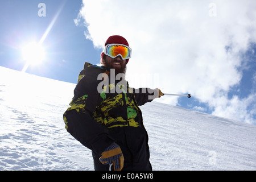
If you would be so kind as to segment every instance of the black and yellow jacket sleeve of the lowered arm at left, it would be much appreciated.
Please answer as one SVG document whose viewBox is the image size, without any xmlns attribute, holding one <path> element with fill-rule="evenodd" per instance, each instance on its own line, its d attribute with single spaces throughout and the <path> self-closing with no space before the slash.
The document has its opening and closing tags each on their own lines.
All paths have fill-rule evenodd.
<svg viewBox="0 0 256 182">
<path fill-rule="evenodd" d="M 63 118 L 65 128 L 85 147 L 98 155 L 114 142 L 108 129 L 97 123 L 92 114 L 100 103 L 97 92 L 97 78 L 86 75 L 82 77 L 74 90 L 74 97 Z"/>
</svg>

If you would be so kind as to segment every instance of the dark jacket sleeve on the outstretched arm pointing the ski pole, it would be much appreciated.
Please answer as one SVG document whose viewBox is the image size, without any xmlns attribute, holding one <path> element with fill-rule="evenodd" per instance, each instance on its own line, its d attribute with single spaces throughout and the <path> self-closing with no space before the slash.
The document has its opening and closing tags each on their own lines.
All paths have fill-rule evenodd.
<svg viewBox="0 0 256 182">
<path fill-rule="evenodd" d="M 156 97 L 158 97 L 158 93 L 156 93 L 154 89 L 150 88 L 133 89 L 133 93 L 135 95 L 135 100 L 139 106 L 142 106 L 147 102 L 151 102 Z"/>
</svg>

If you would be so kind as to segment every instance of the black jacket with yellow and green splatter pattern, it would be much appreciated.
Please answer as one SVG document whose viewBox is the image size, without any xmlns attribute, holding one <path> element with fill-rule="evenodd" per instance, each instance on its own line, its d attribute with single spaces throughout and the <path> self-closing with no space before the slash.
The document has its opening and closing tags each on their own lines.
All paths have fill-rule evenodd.
<svg viewBox="0 0 256 182">
<path fill-rule="evenodd" d="M 124 80 L 109 82 L 105 78 L 103 84 L 102 73 L 109 70 L 85 63 L 70 107 L 63 115 L 65 128 L 92 150 L 96 170 L 108 170 L 98 159 L 113 142 L 123 152 L 123 170 L 151 170 L 148 135 L 139 105 L 152 101 L 154 90 L 132 89 Z"/>
</svg>

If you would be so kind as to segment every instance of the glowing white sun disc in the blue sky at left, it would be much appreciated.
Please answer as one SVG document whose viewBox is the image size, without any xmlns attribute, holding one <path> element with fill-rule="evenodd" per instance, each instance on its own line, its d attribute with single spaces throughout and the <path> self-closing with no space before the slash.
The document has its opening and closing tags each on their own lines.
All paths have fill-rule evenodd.
<svg viewBox="0 0 256 182">
<path fill-rule="evenodd" d="M 38 65 L 45 59 L 45 51 L 42 45 L 31 42 L 22 47 L 22 56 L 26 64 Z"/>
</svg>

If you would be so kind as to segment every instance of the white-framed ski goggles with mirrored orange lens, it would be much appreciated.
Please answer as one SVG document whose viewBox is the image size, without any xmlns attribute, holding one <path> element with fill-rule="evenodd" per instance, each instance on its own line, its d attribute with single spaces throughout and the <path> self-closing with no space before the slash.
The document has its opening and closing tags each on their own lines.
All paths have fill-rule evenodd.
<svg viewBox="0 0 256 182">
<path fill-rule="evenodd" d="M 104 48 L 104 53 L 112 58 L 121 56 L 122 60 L 131 58 L 131 48 L 123 44 L 108 44 Z"/>
</svg>

